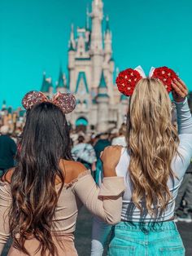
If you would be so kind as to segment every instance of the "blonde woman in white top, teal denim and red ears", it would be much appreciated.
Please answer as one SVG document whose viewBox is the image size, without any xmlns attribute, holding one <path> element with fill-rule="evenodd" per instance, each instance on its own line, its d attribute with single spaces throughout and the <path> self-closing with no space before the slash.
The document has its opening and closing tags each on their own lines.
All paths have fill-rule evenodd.
<svg viewBox="0 0 192 256">
<path fill-rule="evenodd" d="M 185 248 L 174 223 L 174 206 L 185 170 L 192 157 L 192 117 L 187 88 L 172 69 L 155 68 L 142 77 L 141 68 L 127 69 L 116 79 L 130 95 L 127 148 L 120 149 L 116 174 L 124 177 L 121 222 L 112 228 L 98 218 L 92 231 L 91 255 L 103 254 L 111 231 L 109 256 L 184 256 Z M 167 91 L 166 91 L 167 90 Z M 178 133 L 172 124 L 172 104 L 177 108 Z M 113 169 L 113 148 L 102 155 L 103 171 Z M 112 165 L 112 166 L 111 166 Z"/>
</svg>

